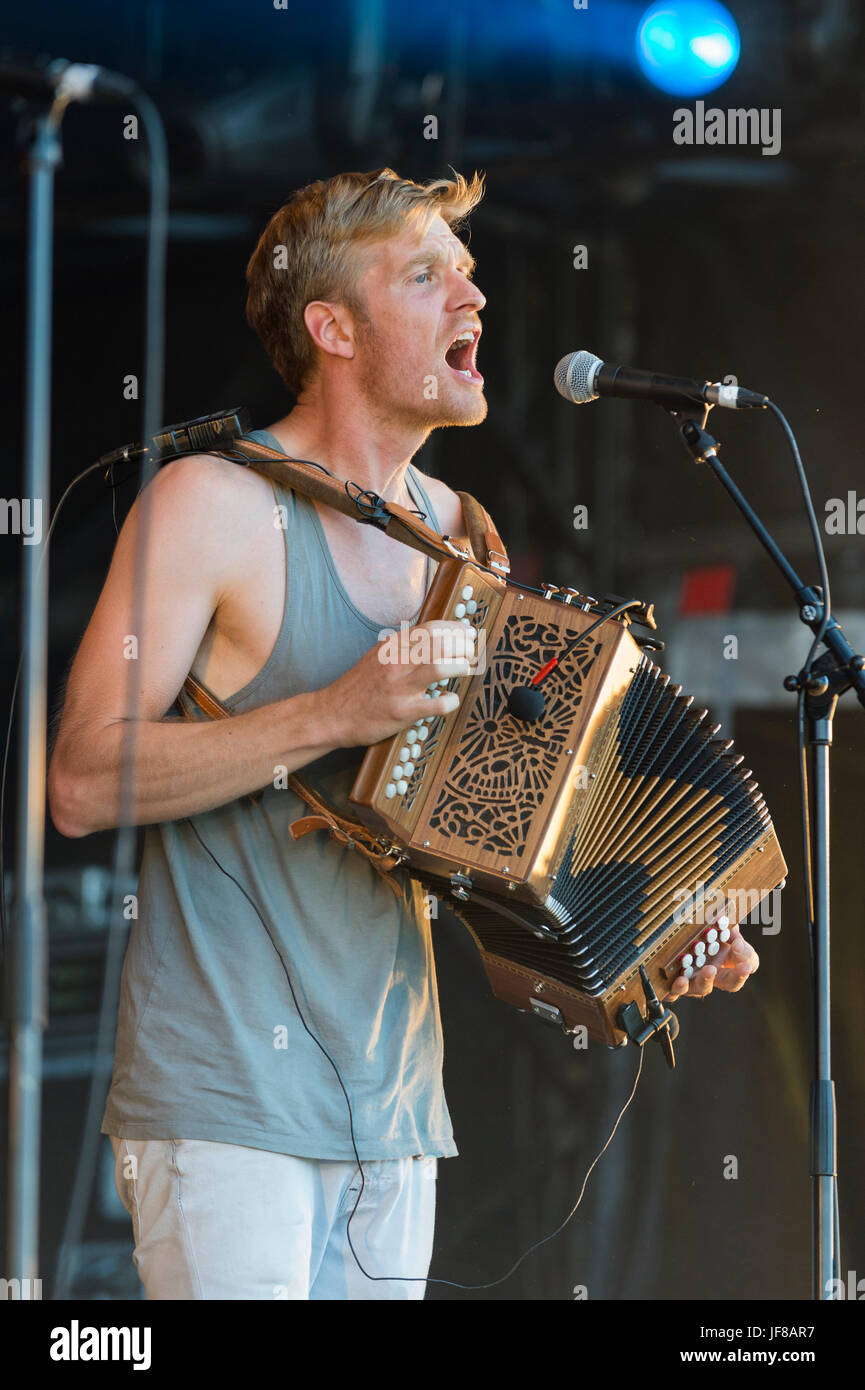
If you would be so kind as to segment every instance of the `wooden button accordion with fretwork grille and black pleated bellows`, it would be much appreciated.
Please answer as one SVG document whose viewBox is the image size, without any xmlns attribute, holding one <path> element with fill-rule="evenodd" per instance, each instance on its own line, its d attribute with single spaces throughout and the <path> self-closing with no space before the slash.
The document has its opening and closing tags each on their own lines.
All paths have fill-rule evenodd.
<svg viewBox="0 0 865 1390">
<path fill-rule="evenodd" d="M 752 912 L 786 865 L 731 741 L 627 619 L 545 677 L 540 719 L 509 713 L 509 692 L 597 623 L 580 602 L 444 560 L 417 621 L 470 621 L 485 660 L 448 682 L 453 714 L 367 751 L 350 799 L 469 927 L 499 998 L 617 1047 L 641 967 L 663 998 L 712 923 Z"/>
</svg>

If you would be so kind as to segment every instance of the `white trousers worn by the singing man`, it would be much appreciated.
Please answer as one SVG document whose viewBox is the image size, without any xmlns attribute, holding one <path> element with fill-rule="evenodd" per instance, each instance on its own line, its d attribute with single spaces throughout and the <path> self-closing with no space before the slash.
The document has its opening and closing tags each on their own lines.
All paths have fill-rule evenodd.
<svg viewBox="0 0 865 1390">
<path fill-rule="evenodd" d="M 352 1216 L 353 1161 L 189 1138 L 111 1145 L 149 1300 L 424 1297 L 435 1158 L 364 1161 Z M 349 1240 L 369 1275 L 398 1277 L 369 1279 Z"/>
</svg>

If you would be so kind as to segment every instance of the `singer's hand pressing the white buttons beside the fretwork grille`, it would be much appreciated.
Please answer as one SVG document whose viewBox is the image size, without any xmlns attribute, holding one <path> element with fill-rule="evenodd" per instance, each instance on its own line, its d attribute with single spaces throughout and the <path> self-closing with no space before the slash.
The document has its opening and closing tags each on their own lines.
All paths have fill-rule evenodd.
<svg viewBox="0 0 865 1390">
<path fill-rule="evenodd" d="M 476 632 L 467 623 L 419 623 L 370 648 L 320 692 L 334 739 L 343 748 L 380 744 L 430 714 L 451 714 L 459 695 L 428 687 L 476 670 Z"/>
</svg>

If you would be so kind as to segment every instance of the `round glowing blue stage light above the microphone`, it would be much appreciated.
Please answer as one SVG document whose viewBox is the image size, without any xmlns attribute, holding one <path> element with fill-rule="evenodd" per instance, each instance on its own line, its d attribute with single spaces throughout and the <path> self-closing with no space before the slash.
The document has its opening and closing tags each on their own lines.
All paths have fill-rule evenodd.
<svg viewBox="0 0 865 1390">
<path fill-rule="evenodd" d="M 711 92 L 738 63 L 736 19 L 715 0 L 652 4 L 637 26 L 637 60 L 649 82 L 673 96 Z"/>
</svg>

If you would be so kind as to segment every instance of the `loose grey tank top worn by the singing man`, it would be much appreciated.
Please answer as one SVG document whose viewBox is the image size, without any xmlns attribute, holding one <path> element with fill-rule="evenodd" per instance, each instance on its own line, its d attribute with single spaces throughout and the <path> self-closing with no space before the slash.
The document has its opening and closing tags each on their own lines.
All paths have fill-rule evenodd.
<svg viewBox="0 0 865 1390">
<path fill-rule="evenodd" d="M 281 450 L 264 430 L 250 438 Z M 438 530 L 410 467 L 406 482 Z M 285 507 L 285 610 L 270 657 L 225 701 L 235 713 L 321 689 L 381 630 L 345 592 L 313 503 L 273 486 Z M 327 639 L 310 644 L 310 626 Z M 362 756 L 338 749 L 299 773 L 348 806 Z M 324 831 L 292 841 L 288 827 L 306 813 L 291 790 L 270 785 L 259 805 L 241 798 L 147 827 L 104 1134 L 352 1159 L 325 1049 L 362 1159 L 456 1154 L 423 890 L 396 870 L 398 899 Z"/>
</svg>

